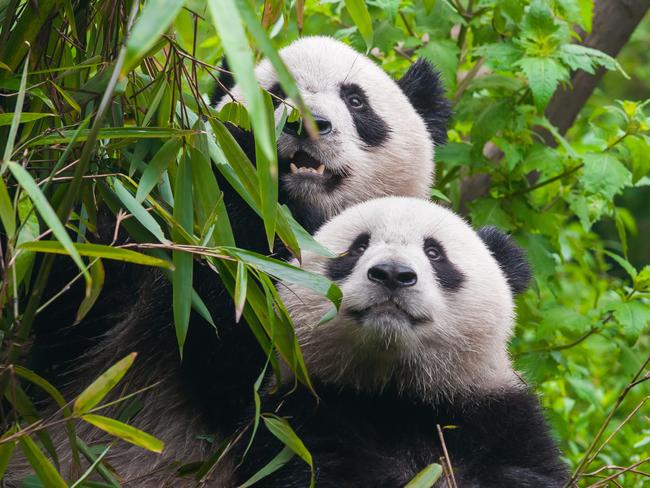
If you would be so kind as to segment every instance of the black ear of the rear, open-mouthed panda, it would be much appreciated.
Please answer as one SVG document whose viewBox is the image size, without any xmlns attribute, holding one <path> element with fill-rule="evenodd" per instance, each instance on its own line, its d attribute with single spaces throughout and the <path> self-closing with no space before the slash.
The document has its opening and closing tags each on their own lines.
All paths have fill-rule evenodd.
<svg viewBox="0 0 650 488">
<path fill-rule="evenodd" d="M 447 122 L 451 105 L 445 98 L 445 89 L 438 73 L 426 59 L 418 59 L 397 82 L 424 119 L 433 142 L 440 146 L 447 142 Z"/>
</svg>

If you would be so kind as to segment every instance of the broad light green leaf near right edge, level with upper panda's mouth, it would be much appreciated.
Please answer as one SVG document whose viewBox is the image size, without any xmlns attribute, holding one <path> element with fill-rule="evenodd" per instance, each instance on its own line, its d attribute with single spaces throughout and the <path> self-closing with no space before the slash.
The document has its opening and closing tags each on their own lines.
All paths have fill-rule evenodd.
<svg viewBox="0 0 650 488">
<path fill-rule="evenodd" d="M 632 183 L 632 173 L 611 154 L 586 154 L 580 181 L 585 190 L 613 199 Z"/>
</svg>

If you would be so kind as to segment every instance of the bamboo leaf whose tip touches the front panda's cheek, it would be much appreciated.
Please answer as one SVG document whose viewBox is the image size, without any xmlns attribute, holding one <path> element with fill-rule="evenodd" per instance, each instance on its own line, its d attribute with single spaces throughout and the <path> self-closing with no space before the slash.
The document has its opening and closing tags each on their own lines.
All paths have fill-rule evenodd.
<svg viewBox="0 0 650 488">
<path fill-rule="evenodd" d="M 326 296 L 337 309 L 341 305 L 341 299 L 343 297 L 341 290 L 336 284 L 322 275 L 310 273 L 283 261 L 268 258 L 252 251 L 230 247 L 222 247 L 220 249 L 226 254 L 244 261 L 249 266 L 253 266 L 279 280 L 309 288 Z"/>
</svg>

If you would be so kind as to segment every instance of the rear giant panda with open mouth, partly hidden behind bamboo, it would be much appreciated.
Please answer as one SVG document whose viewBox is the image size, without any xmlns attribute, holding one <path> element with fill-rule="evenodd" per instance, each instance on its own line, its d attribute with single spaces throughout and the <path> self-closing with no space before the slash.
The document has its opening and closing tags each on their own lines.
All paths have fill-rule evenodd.
<svg viewBox="0 0 650 488">
<path fill-rule="evenodd" d="M 280 200 L 300 224 L 313 232 L 345 207 L 372 197 L 428 198 L 434 146 L 444 143 L 450 115 L 438 74 L 429 63 L 416 61 L 394 81 L 363 54 L 327 37 L 297 40 L 280 50 L 280 56 L 321 132 L 318 140 L 310 140 L 289 124 L 278 140 Z M 256 75 L 263 88 L 282 96 L 268 61 L 260 63 Z M 213 97 L 217 109 L 231 96 L 245 103 L 240 88 L 226 76 Z M 281 111 L 278 105 L 278 117 Z M 253 135 L 230 129 L 252 157 Z M 219 182 L 237 244 L 268 250 L 258 217 L 223 179 Z M 112 214 L 104 222 L 98 225 L 97 242 L 110 243 Z M 100 372 L 138 352 L 120 391 L 134 392 L 159 382 L 138 396 L 142 409 L 131 422 L 162 439 L 165 451 L 157 455 L 119 443 L 106 461 L 125 480 L 137 480 L 133 481 L 137 486 L 160 486 L 174 478 L 179 461 L 208 458 L 219 440 L 233 431 L 252 401 L 252 385 L 266 357 L 247 325 L 235 322 L 232 300 L 207 265 L 195 263 L 194 288 L 216 331 L 193 311 L 182 362 L 168 280 L 155 269 L 104 265 L 102 293 L 81 323 L 73 325 L 83 296 L 81 286 L 37 317 L 31 366 L 72 399 Z M 70 264 L 66 272 L 73 277 L 77 270 Z M 56 276 L 45 297 L 70 281 L 65 273 Z M 104 413 L 115 414 L 122 407 Z M 77 432 L 87 444 L 107 440 L 85 423 Z M 67 438 L 63 431 L 52 435 L 65 472 L 70 463 Z M 24 474 L 25 470 L 12 469 L 8 479 Z M 173 483 L 181 486 L 180 481 Z"/>
</svg>

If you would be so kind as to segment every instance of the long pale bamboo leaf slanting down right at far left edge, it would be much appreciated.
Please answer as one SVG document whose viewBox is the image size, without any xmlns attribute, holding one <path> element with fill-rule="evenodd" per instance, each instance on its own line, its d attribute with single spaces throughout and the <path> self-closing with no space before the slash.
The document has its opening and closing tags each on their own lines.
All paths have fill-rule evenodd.
<svg viewBox="0 0 650 488">
<path fill-rule="evenodd" d="M 86 294 L 90 291 L 91 278 L 90 273 L 86 265 L 81 260 L 81 256 L 77 252 L 77 249 L 74 247 L 70 236 L 63 227 L 63 224 L 59 220 L 59 217 L 56 215 L 56 212 L 50 205 L 50 202 L 47 201 L 47 198 L 41 192 L 41 189 L 38 187 L 36 182 L 32 179 L 31 175 L 19 164 L 9 161 L 9 170 L 14 175 L 14 178 L 18 181 L 20 186 L 23 187 L 29 198 L 34 203 L 34 206 L 38 209 L 38 212 L 41 214 L 41 217 L 45 223 L 52 229 L 54 237 L 58 239 L 61 245 L 65 248 L 68 255 L 72 258 L 75 264 L 79 267 L 81 272 L 84 275 L 86 280 Z"/>
</svg>

